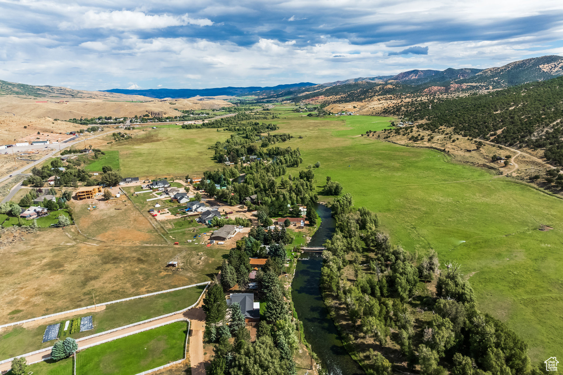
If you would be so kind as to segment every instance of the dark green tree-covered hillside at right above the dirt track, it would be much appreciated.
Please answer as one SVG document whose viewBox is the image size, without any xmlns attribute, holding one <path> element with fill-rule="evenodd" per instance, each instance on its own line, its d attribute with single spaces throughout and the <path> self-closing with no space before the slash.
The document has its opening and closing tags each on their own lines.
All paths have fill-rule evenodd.
<svg viewBox="0 0 563 375">
<path fill-rule="evenodd" d="M 404 102 L 392 110 L 436 131 L 453 127 L 464 137 L 506 146 L 545 148 L 547 160 L 563 164 L 563 77 L 453 99 Z"/>
</svg>

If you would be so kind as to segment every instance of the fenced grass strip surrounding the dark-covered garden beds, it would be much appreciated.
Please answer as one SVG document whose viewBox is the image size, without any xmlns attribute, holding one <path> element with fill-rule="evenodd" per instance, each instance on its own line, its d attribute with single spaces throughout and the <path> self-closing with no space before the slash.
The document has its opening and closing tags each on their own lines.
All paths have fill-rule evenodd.
<svg viewBox="0 0 563 375">
<path fill-rule="evenodd" d="M 68 335 L 73 338 L 90 336 L 187 308 L 198 300 L 204 288 L 204 285 L 196 286 L 142 299 L 100 306 L 96 310 L 84 310 L 81 314 L 65 318 L 53 317 L 39 320 L 37 323 L 25 323 L 14 328 L 3 328 L 0 335 L 0 360 L 52 346 L 55 341 L 41 342 L 48 324 L 92 315 L 94 329 Z M 60 340 L 64 340 L 65 337 L 60 337 Z"/>
</svg>

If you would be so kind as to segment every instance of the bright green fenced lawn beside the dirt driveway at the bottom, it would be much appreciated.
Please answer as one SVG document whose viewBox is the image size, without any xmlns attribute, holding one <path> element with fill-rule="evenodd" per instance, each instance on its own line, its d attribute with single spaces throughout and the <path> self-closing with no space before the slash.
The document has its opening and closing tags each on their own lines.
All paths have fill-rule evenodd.
<svg viewBox="0 0 563 375">
<path fill-rule="evenodd" d="M 136 333 L 77 354 L 79 375 L 133 375 L 184 358 L 187 323 Z"/>
</svg>

